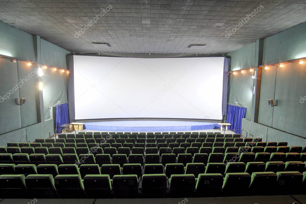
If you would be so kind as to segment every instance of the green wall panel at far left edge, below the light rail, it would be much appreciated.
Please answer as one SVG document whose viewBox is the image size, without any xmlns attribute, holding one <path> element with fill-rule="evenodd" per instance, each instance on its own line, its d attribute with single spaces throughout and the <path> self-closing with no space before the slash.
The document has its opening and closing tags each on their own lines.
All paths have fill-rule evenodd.
<svg viewBox="0 0 306 204">
<path fill-rule="evenodd" d="M 17 63 L 0 57 L 0 134 L 21 128 Z M 16 86 L 17 84 L 17 86 Z"/>
</svg>

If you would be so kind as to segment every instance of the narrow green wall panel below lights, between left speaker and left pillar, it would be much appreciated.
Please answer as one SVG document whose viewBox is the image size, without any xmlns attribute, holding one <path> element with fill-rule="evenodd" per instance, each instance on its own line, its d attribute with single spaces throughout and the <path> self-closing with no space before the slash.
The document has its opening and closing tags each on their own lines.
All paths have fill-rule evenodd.
<svg viewBox="0 0 306 204">
<path fill-rule="evenodd" d="M 39 103 L 39 76 L 36 64 L 29 66 L 18 61 L 18 79 L 22 84 L 19 88 L 21 98 L 26 98 L 26 104 L 20 106 L 22 127 L 37 123 L 37 103 Z"/>
</svg>

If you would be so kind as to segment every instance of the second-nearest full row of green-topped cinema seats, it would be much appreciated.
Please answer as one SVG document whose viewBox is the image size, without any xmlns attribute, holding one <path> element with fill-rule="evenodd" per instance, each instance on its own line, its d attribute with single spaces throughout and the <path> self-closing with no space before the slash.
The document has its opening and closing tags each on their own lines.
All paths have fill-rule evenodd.
<svg viewBox="0 0 306 204">
<path fill-rule="evenodd" d="M 165 173 L 167 177 L 172 174 L 193 174 L 196 177 L 200 173 L 250 173 L 253 172 L 280 172 L 280 171 L 305 171 L 305 162 L 302 161 L 268 161 L 264 162 L 228 162 L 224 163 L 167 163 L 162 164 L 0 164 L 0 175 L 4 174 L 80 174 L 84 178 L 87 174 L 109 174 L 114 175 L 136 174 L 141 177 L 143 174 Z"/>
</svg>

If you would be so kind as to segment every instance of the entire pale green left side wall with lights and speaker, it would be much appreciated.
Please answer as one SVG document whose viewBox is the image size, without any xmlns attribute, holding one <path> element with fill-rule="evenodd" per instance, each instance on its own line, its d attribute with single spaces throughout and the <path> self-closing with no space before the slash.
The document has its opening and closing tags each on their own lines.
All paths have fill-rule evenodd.
<svg viewBox="0 0 306 204">
<path fill-rule="evenodd" d="M 7 142 L 34 141 L 35 138 L 49 137 L 54 130 L 54 121 L 45 118 L 49 105 L 67 102 L 67 73 L 43 69 L 43 91 L 39 91 L 40 65 L 66 69 L 65 55 L 69 51 L 55 46 L 39 36 L 30 35 L 0 21 L 0 146 Z M 17 59 L 13 63 L 11 59 Z M 27 61 L 33 62 L 31 66 Z M 22 83 L 23 82 L 23 83 Z M 15 84 L 20 84 L 16 88 Z M 52 88 L 51 88 L 52 87 Z M 23 106 L 15 105 L 15 98 L 27 98 Z M 49 112 L 48 112 L 49 113 Z"/>
</svg>

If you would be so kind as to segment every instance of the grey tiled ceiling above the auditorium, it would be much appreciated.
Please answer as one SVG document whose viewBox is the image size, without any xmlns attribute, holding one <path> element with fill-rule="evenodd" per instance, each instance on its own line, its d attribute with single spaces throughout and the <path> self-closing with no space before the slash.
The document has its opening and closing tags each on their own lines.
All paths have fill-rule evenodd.
<svg viewBox="0 0 306 204">
<path fill-rule="evenodd" d="M 306 21 L 306 1 L 1 0 L 0 20 L 73 52 L 223 54 Z"/>
</svg>

